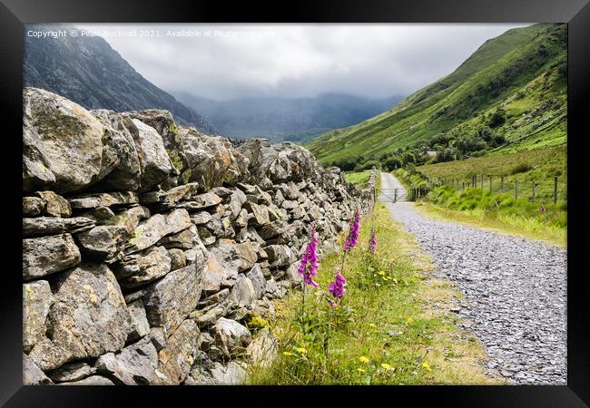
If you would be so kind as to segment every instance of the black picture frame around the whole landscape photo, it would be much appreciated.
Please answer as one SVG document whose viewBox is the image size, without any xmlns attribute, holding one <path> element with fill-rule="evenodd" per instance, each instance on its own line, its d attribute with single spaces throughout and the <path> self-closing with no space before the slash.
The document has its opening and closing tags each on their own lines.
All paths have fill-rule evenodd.
<svg viewBox="0 0 590 408">
<path fill-rule="evenodd" d="M 568 189 L 567 385 L 401 386 L 401 387 L 60 387 L 22 385 L 22 282 L 18 268 L 21 211 L 17 174 L 22 132 L 23 24 L 27 23 L 567 23 L 568 24 Z M 584 223 L 587 209 L 584 154 L 588 154 L 587 110 L 590 63 L 590 5 L 586 0 L 321 0 L 275 2 L 164 2 L 162 0 L 0 0 L 0 100 L 3 121 L 3 185 L 6 186 L 2 296 L 0 296 L 0 403 L 5 406 L 118 406 L 162 403 L 227 404 L 228 398 L 257 404 L 307 404 L 317 393 L 341 403 L 359 393 L 365 403 L 436 406 L 577 407 L 590 403 L 590 318 L 586 306 Z M 13 149 L 14 148 L 14 149 Z M 578 179 L 579 181 L 576 181 Z M 11 192 L 9 189 L 15 189 Z M 7 222 L 11 221 L 11 222 Z M 14 226 L 12 223 L 14 222 Z M 10 262 L 9 262 L 10 261 Z M 11 265 L 14 261 L 14 267 Z M 293 399 L 268 393 L 289 393 Z M 383 393 L 379 399 L 366 393 Z M 402 400 L 403 398 L 403 400 Z M 361 400 L 362 401 L 362 400 Z M 186 402 L 185 402 L 186 403 Z M 362 403 L 362 402 L 361 402 Z M 388 403 L 388 404 L 389 404 Z"/>
</svg>

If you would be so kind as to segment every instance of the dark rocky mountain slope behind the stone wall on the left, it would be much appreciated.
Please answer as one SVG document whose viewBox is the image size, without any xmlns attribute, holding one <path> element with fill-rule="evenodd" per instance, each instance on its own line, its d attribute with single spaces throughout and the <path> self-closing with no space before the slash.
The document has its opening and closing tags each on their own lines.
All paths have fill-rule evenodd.
<svg viewBox="0 0 590 408">
<path fill-rule="evenodd" d="M 57 28 L 73 27 L 27 24 L 25 30 Z M 25 35 L 24 83 L 63 95 L 86 109 L 166 109 L 182 124 L 209 134 L 217 132 L 199 113 L 143 78 L 99 36 Z"/>
</svg>

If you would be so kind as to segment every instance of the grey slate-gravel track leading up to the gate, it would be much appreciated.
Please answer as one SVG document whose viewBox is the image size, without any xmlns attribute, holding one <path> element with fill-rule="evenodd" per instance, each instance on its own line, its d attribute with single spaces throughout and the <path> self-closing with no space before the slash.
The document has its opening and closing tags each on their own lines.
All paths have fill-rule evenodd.
<svg viewBox="0 0 590 408">
<path fill-rule="evenodd" d="M 488 368 L 510 384 L 566 384 L 565 250 L 429 219 L 412 203 L 388 206 L 464 296 L 457 313 L 485 345 Z"/>
</svg>

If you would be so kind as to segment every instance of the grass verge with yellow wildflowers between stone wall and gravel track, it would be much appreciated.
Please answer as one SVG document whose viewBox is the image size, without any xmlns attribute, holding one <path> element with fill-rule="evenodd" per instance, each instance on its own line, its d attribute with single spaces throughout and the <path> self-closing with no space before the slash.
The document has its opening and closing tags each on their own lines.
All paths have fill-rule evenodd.
<svg viewBox="0 0 590 408">
<path fill-rule="evenodd" d="M 433 277 L 429 257 L 382 203 L 361 220 L 343 271 L 347 291 L 333 309 L 322 299 L 340 261 L 338 253 L 321 259 L 320 288 L 308 287 L 304 302 L 300 291 L 275 301 L 268 328 L 279 353 L 251 367 L 249 384 L 503 384 L 485 374 L 484 351 L 449 311 L 460 295 Z"/>
</svg>

